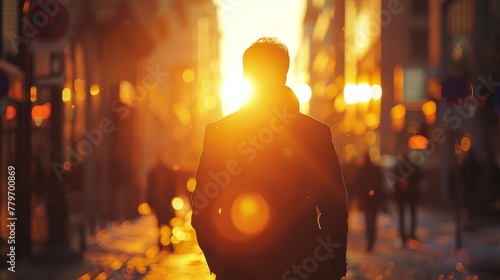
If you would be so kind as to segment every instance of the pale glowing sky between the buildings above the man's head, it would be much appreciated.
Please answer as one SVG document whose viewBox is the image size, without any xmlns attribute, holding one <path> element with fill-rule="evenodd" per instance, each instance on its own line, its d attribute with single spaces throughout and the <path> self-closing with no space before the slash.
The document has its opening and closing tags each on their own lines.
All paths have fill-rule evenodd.
<svg viewBox="0 0 500 280">
<path fill-rule="evenodd" d="M 219 6 L 221 74 L 223 83 L 241 78 L 241 57 L 262 36 L 277 37 L 290 51 L 289 86 L 294 58 L 302 36 L 305 0 L 215 0 Z"/>
</svg>

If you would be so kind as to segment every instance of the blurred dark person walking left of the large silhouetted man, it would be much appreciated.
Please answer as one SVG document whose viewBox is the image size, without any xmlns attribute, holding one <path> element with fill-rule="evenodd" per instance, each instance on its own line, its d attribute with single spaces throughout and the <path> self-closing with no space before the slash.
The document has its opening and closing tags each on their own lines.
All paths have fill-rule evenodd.
<svg viewBox="0 0 500 280">
<path fill-rule="evenodd" d="M 147 202 L 158 220 L 158 229 L 160 230 L 158 245 L 160 248 L 166 247 L 165 242 L 161 242 L 161 228 L 165 225 L 168 226 L 170 220 L 175 218 L 175 210 L 172 207 L 172 199 L 176 195 L 175 181 L 174 171 L 168 168 L 161 159 L 158 159 L 148 173 Z M 171 242 L 168 242 L 168 250 L 174 251 Z"/>
</svg>

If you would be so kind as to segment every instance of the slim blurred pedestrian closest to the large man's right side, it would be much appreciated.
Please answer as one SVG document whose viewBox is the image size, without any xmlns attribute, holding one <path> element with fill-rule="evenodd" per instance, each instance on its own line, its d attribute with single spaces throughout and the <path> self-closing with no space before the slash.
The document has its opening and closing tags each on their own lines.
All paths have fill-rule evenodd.
<svg viewBox="0 0 500 280">
<path fill-rule="evenodd" d="M 377 235 L 377 214 L 384 205 L 385 194 L 382 187 L 382 171 L 373 164 L 368 153 L 358 169 L 356 194 L 359 209 L 364 213 L 366 223 L 366 251 L 373 251 Z"/>
</svg>

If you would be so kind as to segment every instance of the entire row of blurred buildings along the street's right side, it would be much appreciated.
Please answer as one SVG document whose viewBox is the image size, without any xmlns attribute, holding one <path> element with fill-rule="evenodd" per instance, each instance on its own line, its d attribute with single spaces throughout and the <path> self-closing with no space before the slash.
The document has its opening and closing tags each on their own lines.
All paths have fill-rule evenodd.
<svg viewBox="0 0 500 280">
<path fill-rule="evenodd" d="M 368 151 L 390 170 L 405 147 L 436 203 L 470 150 L 498 161 L 498 2 L 307 1 L 297 62 L 343 161 Z"/>
</svg>

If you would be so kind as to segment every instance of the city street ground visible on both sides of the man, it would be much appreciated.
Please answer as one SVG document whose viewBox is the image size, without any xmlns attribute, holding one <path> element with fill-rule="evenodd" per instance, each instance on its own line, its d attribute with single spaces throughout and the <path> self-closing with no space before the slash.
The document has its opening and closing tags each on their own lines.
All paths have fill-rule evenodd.
<svg viewBox="0 0 500 280">
<path fill-rule="evenodd" d="M 484 220 L 463 233 L 464 248 L 454 249 L 452 212 L 420 209 L 417 238 L 401 248 L 394 205 L 379 215 L 374 252 L 365 252 L 362 214 L 351 210 L 347 279 L 498 279 L 500 224 Z M 176 253 L 158 251 L 154 216 L 142 216 L 101 230 L 87 238 L 82 262 L 25 261 L 2 279 L 214 279 L 193 241 L 176 245 Z M 13 277 L 16 276 L 16 277 Z"/>
</svg>

